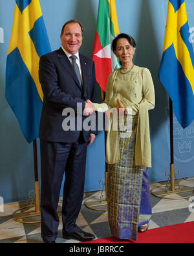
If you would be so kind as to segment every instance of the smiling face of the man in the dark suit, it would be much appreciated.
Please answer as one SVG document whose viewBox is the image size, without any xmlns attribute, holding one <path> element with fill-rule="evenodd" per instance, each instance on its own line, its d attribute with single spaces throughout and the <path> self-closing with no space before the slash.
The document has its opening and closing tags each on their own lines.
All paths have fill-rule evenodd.
<svg viewBox="0 0 194 256">
<path fill-rule="evenodd" d="M 82 32 L 78 23 L 65 25 L 61 35 L 61 44 L 68 53 L 74 55 L 78 52 L 82 44 Z"/>
</svg>

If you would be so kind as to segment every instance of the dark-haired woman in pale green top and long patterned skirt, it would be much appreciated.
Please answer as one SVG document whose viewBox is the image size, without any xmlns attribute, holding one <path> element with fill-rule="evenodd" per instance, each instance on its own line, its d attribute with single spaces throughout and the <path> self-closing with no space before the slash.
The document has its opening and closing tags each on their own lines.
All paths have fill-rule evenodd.
<svg viewBox="0 0 194 256">
<path fill-rule="evenodd" d="M 97 111 L 123 110 L 125 124 L 114 129 L 114 114 L 109 114 L 107 131 L 107 205 L 111 233 L 120 239 L 137 239 L 148 228 L 151 218 L 149 178 L 151 144 L 148 110 L 155 107 L 151 73 L 133 64 L 135 40 L 119 34 L 113 40 L 114 55 L 122 67 L 109 75 L 105 101 L 94 104 Z M 128 119 L 127 119 L 128 118 Z M 128 120 L 128 122 L 127 122 Z M 119 123 L 119 122 L 118 122 Z"/>
</svg>

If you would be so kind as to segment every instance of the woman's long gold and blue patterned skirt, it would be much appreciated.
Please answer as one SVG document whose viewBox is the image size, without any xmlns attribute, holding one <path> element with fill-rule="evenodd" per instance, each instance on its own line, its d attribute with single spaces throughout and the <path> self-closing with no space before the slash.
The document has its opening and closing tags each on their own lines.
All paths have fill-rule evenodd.
<svg viewBox="0 0 194 256">
<path fill-rule="evenodd" d="M 151 218 L 151 206 L 147 168 L 135 166 L 138 115 L 131 122 L 131 136 L 123 138 L 124 131 L 118 131 L 120 160 L 107 166 L 107 206 L 112 235 L 137 240 L 138 226 Z"/>
</svg>

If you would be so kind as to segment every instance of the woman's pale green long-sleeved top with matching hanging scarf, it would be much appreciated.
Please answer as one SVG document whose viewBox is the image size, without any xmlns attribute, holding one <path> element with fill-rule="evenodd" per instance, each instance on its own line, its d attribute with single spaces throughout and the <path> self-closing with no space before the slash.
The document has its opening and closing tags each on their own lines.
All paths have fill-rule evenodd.
<svg viewBox="0 0 194 256">
<path fill-rule="evenodd" d="M 138 66 L 133 66 L 130 71 L 120 69 L 113 71 L 107 82 L 105 101 L 101 104 L 95 103 L 95 110 L 99 112 L 111 110 L 118 105 L 117 99 L 120 99 L 125 108 L 132 109 L 132 115 L 138 114 L 135 164 L 151 167 L 148 110 L 155 107 L 155 90 L 150 71 Z M 114 164 L 119 159 L 118 132 L 113 129 L 113 118 L 110 114 L 106 141 L 106 162 Z"/>
</svg>

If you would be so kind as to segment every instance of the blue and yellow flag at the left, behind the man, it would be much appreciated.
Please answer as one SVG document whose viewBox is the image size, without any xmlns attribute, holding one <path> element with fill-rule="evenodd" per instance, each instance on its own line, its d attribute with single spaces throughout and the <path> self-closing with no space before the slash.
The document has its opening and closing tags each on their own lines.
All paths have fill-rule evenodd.
<svg viewBox="0 0 194 256">
<path fill-rule="evenodd" d="M 29 143 L 38 137 L 43 105 L 39 58 L 50 51 L 39 0 L 16 0 L 5 96 Z"/>
</svg>

